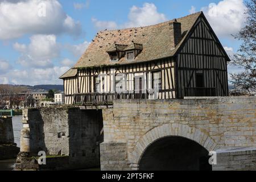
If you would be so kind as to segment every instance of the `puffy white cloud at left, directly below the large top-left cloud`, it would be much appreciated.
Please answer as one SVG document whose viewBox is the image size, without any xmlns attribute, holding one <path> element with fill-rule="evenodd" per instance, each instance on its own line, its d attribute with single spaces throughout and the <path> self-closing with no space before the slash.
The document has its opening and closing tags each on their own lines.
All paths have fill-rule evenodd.
<svg viewBox="0 0 256 182">
<path fill-rule="evenodd" d="M 28 46 L 15 43 L 14 49 L 22 53 L 17 62 L 23 67 L 32 68 L 52 67 L 52 59 L 60 52 L 55 35 L 31 36 Z"/>
</svg>

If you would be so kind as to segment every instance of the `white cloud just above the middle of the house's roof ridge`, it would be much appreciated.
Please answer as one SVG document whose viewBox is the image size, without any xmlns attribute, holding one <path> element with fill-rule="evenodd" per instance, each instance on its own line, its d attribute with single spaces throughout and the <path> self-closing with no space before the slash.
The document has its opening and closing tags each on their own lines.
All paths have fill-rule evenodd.
<svg viewBox="0 0 256 182">
<path fill-rule="evenodd" d="M 114 21 L 100 21 L 92 18 L 92 22 L 97 30 L 116 29 L 124 27 L 141 27 L 164 22 L 166 15 L 158 13 L 154 3 L 144 3 L 142 7 L 133 6 L 128 15 L 128 22 L 118 25 Z"/>
</svg>

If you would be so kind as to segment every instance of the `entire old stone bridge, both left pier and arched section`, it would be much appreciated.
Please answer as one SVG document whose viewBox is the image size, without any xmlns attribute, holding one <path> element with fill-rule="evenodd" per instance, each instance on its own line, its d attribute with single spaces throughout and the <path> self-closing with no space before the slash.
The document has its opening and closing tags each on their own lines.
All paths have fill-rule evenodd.
<svg viewBox="0 0 256 182">
<path fill-rule="evenodd" d="M 110 108 L 27 109 L 18 169 L 30 168 L 22 156 L 44 150 L 51 156 L 51 166 L 44 169 L 255 170 L 255 129 L 256 97 L 118 100 Z M 213 160 L 211 166 L 212 151 L 217 164 Z"/>
</svg>

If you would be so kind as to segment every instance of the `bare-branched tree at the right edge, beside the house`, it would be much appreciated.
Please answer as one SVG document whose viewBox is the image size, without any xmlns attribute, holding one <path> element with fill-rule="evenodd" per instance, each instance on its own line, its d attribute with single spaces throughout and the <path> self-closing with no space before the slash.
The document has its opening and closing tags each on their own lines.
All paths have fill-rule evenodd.
<svg viewBox="0 0 256 182">
<path fill-rule="evenodd" d="M 243 68 L 243 72 L 230 74 L 232 84 L 237 90 L 256 90 L 256 0 L 246 2 L 246 26 L 234 37 L 242 41 L 237 55 L 234 55 L 231 64 Z"/>
</svg>

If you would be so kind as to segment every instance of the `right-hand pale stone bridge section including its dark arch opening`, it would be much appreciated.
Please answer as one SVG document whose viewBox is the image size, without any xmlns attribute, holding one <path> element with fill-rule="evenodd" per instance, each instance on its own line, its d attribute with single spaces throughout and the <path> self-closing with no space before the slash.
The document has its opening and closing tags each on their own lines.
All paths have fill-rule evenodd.
<svg viewBox="0 0 256 182">
<path fill-rule="evenodd" d="M 102 170 L 256 169 L 256 97 L 119 100 L 102 113 Z"/>
</svg>

